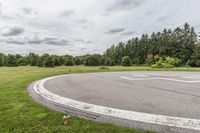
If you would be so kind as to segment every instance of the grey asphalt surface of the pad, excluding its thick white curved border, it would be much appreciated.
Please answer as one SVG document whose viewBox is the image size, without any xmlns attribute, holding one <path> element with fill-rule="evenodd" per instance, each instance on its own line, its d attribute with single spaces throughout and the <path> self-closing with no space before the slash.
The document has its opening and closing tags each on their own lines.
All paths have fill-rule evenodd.
<svg viewBox="0 0 200 133">
<path fill-rule="evenodd" d="M 34 83 L 29 87 L 31 96 L 38 102 L 59 110 L 93 119 L 98 114 L 67 108 L 34 93 Z M 154 115 L 200 119 L 200 73 L 192 72 L 115 72 L 70 74 L 44 82 L 49 92 L 84 103 L 120 110 Z M 91 117 L 91 118 L 90 118 Z M 156 125 L 109 116 L 95 118 L 159 132 L 200 132 L 189 128 Z M 199 121 L 200 123 L 200 121 Z M 200 127 L 200 125 L 197 125 Z"/>
</svg>

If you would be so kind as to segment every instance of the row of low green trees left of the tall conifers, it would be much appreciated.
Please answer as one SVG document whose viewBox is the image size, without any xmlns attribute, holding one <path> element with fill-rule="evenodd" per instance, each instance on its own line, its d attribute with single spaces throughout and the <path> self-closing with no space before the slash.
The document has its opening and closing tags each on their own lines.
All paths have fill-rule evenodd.
<svg viewBox="0 0 200 133">
<path fill-rule="evenodd" d="M 86 66 L 99 66 L 103 65 L 103 56 L 99 54 L 83 55 L 73 57 L 71 55 L 38 55 L 35 53 L 29 53 L 26 56 L 19 54 L 3 54 L 0 53 L 0 66 L 38 66 L 38 67 L 54 67 L 54 66 L 74 66 L 74 65 L 86 65 Z"/>
</svg>

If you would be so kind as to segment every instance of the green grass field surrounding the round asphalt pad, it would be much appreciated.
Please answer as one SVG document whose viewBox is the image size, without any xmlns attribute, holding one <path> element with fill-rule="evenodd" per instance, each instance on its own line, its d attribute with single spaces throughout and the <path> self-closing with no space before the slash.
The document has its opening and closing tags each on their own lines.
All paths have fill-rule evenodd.
<svg viewBox="0 0 200 133">
<path fill-rule="evenodd" d="M 109 71 L 200 71 L 200 68 L 151 69 L 149 67 L 110 67 Z M 142 133 L 111 124 L 72 117 L 63 125 L 62 113 L 49 110 L 29 97 L 27 86 L 48 76 L 103 72 L 99 67 L 0 67 L 0 133 Z"/>
</svg>

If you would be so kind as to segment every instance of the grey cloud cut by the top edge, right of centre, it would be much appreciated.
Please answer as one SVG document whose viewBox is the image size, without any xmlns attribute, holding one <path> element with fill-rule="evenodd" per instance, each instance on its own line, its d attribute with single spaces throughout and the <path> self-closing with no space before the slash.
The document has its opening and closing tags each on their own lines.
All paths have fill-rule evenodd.
<svg viewBox="0 0 200 133">
<path fill-rule="evenodd" d="M 137 8 L 141 6 L 145 1 L 144 0 L 117 0 L 112 5 L 110 5 L 106 11 L 124 11 Z"/>
</svg>

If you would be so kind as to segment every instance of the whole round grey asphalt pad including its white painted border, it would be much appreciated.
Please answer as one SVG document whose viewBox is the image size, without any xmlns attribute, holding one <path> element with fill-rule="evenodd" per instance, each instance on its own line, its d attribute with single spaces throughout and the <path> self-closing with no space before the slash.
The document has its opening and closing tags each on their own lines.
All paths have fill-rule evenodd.
<svg viewBox="0 0 200 133">
<path fill-rule="evenodd" d="M 70 74 L 29 87 L 34 100 L 95 121 L 162 133 L 200 132 L 200 73 Z"/>
</svg>

